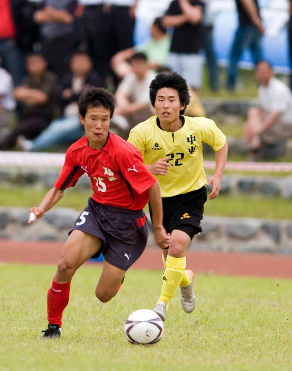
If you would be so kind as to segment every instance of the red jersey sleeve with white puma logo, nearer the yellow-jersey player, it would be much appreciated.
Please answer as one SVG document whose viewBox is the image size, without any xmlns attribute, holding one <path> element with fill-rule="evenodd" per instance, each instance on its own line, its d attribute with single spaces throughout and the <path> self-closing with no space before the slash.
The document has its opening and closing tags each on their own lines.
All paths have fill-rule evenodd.
<svg viewBox="0 0 292 371">
<path fill-rule="evenodd" d="M 156 183 L 156 178 L 143 164 L 143 158 L 136 148 L 133 147 L 133 151 L 127 149 L 119 153 L 116 160 L 122 177 L 138 194 L 145 192 Z"/>
</svg>

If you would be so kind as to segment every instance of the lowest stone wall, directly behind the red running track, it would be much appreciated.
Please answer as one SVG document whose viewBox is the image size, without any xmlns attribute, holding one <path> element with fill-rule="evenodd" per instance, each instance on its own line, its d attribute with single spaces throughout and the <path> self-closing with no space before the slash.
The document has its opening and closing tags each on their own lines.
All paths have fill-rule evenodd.
<svg viewBox="0 0 292 371">
<path fill-rule="evenodd" d="M 28 225 L 27 209 L 0 207 L 0 239 L 65 241 L 78 215 L 75 209 L 55 207 Z M 292 254 L 292 221 L 205 216 L 202 228 L 191 249 Z M 151 224 L 148 244 L 155 245 Z"/>
</svg>

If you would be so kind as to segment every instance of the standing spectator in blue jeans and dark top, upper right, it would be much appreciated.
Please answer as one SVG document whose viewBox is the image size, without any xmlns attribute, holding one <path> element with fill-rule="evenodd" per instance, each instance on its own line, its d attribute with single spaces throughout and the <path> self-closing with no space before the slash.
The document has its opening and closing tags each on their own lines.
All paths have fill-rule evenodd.
<svg viewBox="0 0 292 371">
<path fill-rule="evenodd" d="M 229 90 L 234 89 L 237 78 L 237 62 L 244 49 L 250 49 L 254 64 L 263 59 L 261 41 L 265 32 L 257 0 L 235 1 L 239 15 L 239 26 L 234 36 L 229 57 L 226 82 L 226 87 Z"/>
</svg>

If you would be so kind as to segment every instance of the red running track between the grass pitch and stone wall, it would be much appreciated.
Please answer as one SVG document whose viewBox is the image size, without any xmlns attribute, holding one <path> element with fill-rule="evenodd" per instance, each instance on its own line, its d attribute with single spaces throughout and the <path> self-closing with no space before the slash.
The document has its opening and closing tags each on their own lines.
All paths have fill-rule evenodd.
<svg viewBox="0 0 292 371">
<path fill-rule="evenodd" d="M 0 261 L 57 264 L 64 243 L 0 240 Z M 292 279 L 292 256 L 257 253 L 223 253 L 187 250 L 187 266 L 195 273 Z M 95 263 L 86 263 L 95 264 Z M 162 269 L 159 247 L 147 247 L 134 269 Z"/>
</svg>

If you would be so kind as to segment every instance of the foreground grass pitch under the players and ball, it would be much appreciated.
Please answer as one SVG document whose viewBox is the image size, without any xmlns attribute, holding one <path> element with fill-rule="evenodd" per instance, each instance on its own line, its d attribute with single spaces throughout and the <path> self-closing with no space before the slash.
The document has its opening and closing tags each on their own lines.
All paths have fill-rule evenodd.
<svg viewBox="0 0 292 371">
<path fill-rule="evenodd" d="M 61 338 L 41 341 L 55 267 L 1 265 L 0 370 L 292 369 L 292 281 L 198 275 L 195 311 L 184 313 L 177 293 L 162 340 L 142 346 L 126 340 L 124 320 L 152 309 L 161 273 L 130 270 L 119 294 L 103 304 L 94 296 L 100 271 L 99 265 L 77 271 Z"/>
</svg>

